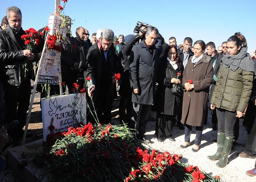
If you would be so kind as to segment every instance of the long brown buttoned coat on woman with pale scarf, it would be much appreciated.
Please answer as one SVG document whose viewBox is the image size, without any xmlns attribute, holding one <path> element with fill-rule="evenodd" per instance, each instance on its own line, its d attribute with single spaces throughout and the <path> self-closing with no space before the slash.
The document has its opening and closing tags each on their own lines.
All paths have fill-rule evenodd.
<svg viewBox="0 0 256 182">
<path fill-rule="evenodd" d="M 182 84 L 184 89 L 182 104 L 181 123 L 191 126 L 203 126 L 204 117 L 207 113 L 207 102 L 209 96 L 209 87 L 212 83 L 213 71 L 211 58 L 204 55 L 195 65 L 188 60 L 187 66 L 183 71 Z M 184 83 L 192 80 L 194 89 L 190 96 L 184 88 Z"/>
</svg>

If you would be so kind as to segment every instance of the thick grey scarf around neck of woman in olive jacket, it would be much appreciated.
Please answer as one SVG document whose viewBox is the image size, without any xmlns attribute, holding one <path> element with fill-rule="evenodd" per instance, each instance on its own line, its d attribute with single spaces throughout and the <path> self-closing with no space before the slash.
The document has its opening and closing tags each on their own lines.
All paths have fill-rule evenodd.
<svg viewBox="0 0 256 182">
<path fill-rule="evenodd" d="M 224 62 L 224 68 L 230 68 L 232 71 L 236 71 L 241 68 L 244 71 L 251 71 L 255 75 L 254 63 L 251 59 L 251 55 L 247 52 L 245 47 L 241 48 L 240 52 L 237 55 L 227 55 L 222 58 Z"/>
</svg>

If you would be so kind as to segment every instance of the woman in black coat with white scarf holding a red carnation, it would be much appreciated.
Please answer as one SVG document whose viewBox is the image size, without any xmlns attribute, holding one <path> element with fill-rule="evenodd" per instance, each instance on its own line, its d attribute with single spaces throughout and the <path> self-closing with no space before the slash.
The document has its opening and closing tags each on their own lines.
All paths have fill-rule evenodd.
<svg viewBox="0 0 256 182">
<path fill-rule="evenodd" d="M 177 48 L 173 45 L 168 46 L 158 65 L 158 87 L 154 103 L 155 111 L 157 111 L 155 134 L 159 142 L 163 142 L 166 138 L 175 141 L 172 138 L 172 127 L 176 122 L 178 110 L 182 109 L 182 94 L 181 96 L 174 95 L 172 87 L 174 84 L 182 85 L 183 70 Z"/>
</svg>

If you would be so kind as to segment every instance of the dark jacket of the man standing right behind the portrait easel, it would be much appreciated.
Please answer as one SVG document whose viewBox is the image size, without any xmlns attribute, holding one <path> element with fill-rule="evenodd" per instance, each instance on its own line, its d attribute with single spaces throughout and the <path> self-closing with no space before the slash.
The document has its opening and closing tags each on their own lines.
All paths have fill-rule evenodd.
<svg viewBox="0 0 256 182">
<path fill-rule="evenodd" d="M 65 40 L 61 44 L 61 77 L 63 80 L 76 80 L 78 70 L 71 71 L 71 67 L 75 63 L 80 63 L 80 52 L 76 47 L 75 37 L 66 35 Z"/>
</svg>

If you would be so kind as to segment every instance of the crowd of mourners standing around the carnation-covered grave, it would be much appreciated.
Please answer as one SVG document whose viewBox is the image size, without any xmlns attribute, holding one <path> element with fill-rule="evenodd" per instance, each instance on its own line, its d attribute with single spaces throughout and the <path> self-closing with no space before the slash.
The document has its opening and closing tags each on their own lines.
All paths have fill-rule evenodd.
<svg viewBox="0 0 256 182">
<path fill-rule="evenodd" d="M 66 19 L 70 31 L 71 19 L 68 16 Z M 216 165 L 225 167 L 236 140 L 239 118 L 244 118 L 248 130 L 246 150 L 239 156 L 256 157 L 255 62 L 247 53 L 245 37 L 239 32 L 218 49 L 212 41 L 206 44 L 197 40 L 192 45 L 191 37 L 185 37 L 179 46 L 176 38 L 170 37 L 168 45 L 152 26 L 141 27 L 137 35 L 119 35 L 116 43 L 111 29 L 99 29 L 92 34 L 92 41 L 83 27 L 76 28 L 75 33 L 76 37 L 67 33 L 61 41 L 61 78 L 65 82 L 62 88 L 63 92 L 66 87 L 70 92 L 73 83 L 78 83 L 80 89 L 86 88 L 88 107 L 96 111 L 87 113 L 87 122 L 110 123 L 112 102 L 118 92 L 120 122 L 126 123 L 139 140 L 151 142 L 145 133 L 153 110 L 157 112 L 158 142 L 165 139 L 175 142 L 172 132 L 177 123 L 184 130 L 184 143 L 180 147 L 185 149 L 190 145 L 194 126 L 196 139 L 192 151 L 197 152 L 210 104 L 212 130 L 218 130 L 218 149 L 208 159 L 218 160 Z M 27 67 L 29 74 L 26 77 L 22 74 L 23 64 L 38 62 L 45 43 L 46 35 L 39 36 L 40 46 L 35 51 L 26 50 L 21 39 L 24 34 L 20 9 L 7 8 L 0 31 L 0 125 L 13 120 L 19 120 L 19 124 L 8 133 L 4 127 L 0 128 L 0 137 L 4 138 L 1 146 L 10 136 L 14 140 L 23 136 L 30 80 L 35 78 L 32 64 Z M 117 73 L 121 74 L 118 90 L 114 76 Z M 40 85 L 37 87 L 41 97 L 60 94 L 59 86 L 48 87 L 50 93 Z M 256 175 L 256 164 L 246 174 Z"/>
</svg>

